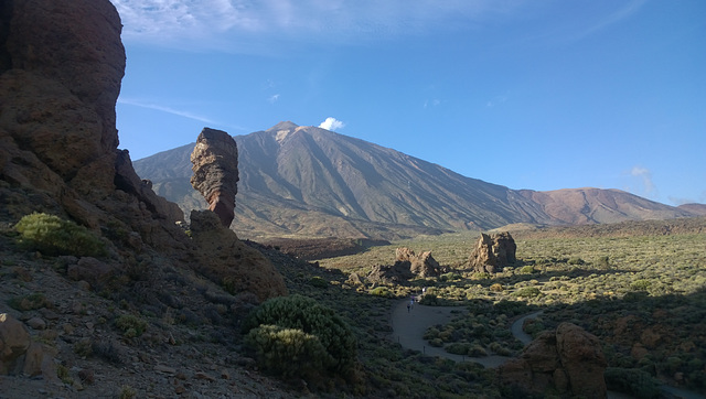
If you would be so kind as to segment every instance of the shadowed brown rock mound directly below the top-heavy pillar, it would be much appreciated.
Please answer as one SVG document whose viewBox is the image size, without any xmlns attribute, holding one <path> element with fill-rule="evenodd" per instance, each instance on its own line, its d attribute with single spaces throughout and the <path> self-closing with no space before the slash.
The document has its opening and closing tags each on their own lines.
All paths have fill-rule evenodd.
<svg viewBox="0 0 706 399">
<path fill-rule="evenodd" d="M 192 211 L 191 234 L 199 246 L 196 268 L 232 293 L 252 292 L 259 301 L 286 295 L 281 274 L 263 254 L 243 244 L 211 211 Z"/>
</svg>

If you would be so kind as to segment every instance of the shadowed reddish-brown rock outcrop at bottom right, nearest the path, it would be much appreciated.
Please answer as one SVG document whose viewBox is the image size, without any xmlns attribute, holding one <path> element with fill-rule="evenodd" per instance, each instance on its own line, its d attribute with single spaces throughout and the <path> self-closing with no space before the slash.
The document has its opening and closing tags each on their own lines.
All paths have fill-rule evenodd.
<svg viewBox="0 0 706 399">
<path fill-rule="evenodd" d="M 554 389 L 580 398 L 606 398 L 603 374 L 608 363 L 598 338 L 584 328 L 561 323 L 544 332 L 518 358 L 499 369 L 503 384 L 533 395 Z"/>
</svg>

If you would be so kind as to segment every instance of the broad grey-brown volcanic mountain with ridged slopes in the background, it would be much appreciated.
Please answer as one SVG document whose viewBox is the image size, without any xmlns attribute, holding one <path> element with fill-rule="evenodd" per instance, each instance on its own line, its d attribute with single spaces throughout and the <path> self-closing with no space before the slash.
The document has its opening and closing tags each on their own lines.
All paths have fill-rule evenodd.
<svg viewBox="0 0 706 399">
<path fill-rule="evenodd" d="M 511 190 L 317 127 L 280 122 L 238 145 L 234 229 L 244 238 L 395 239 L 512 223 L 596 224 L 694 216 L 619 190 Z M 133 162 L 186 216 L 205 207 L 189 180 L 194 144 Z"/>
</svg>

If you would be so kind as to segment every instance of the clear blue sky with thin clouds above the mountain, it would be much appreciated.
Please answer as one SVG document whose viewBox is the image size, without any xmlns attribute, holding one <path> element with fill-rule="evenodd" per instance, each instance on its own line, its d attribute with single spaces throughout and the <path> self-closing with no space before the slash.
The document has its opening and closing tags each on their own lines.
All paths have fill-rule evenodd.
<svg viewBox="0 0 706 399">
<path fill-rule="evenodd" d="M 706 203 L 706 1 L 111 1 L 133 160 L 328 121 L 511 188 Z"/>
</svg>

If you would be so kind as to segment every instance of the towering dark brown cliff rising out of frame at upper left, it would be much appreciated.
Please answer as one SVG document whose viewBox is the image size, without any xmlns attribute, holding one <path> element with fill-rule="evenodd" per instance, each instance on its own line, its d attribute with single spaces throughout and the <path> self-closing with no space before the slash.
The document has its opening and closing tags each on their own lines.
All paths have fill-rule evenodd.
<svg viewBox="0 0 706 399">
<path fill-rule="evenodd" d="M 126 57 L 113 4 L 8 1 L 0 12 L 0 198 L 8 204 L 0 216 L 12 223 L 47 212 L 184 248 L 174 227 L 181 212 L 143 187 L 117 149 Z"/>
</svg>

